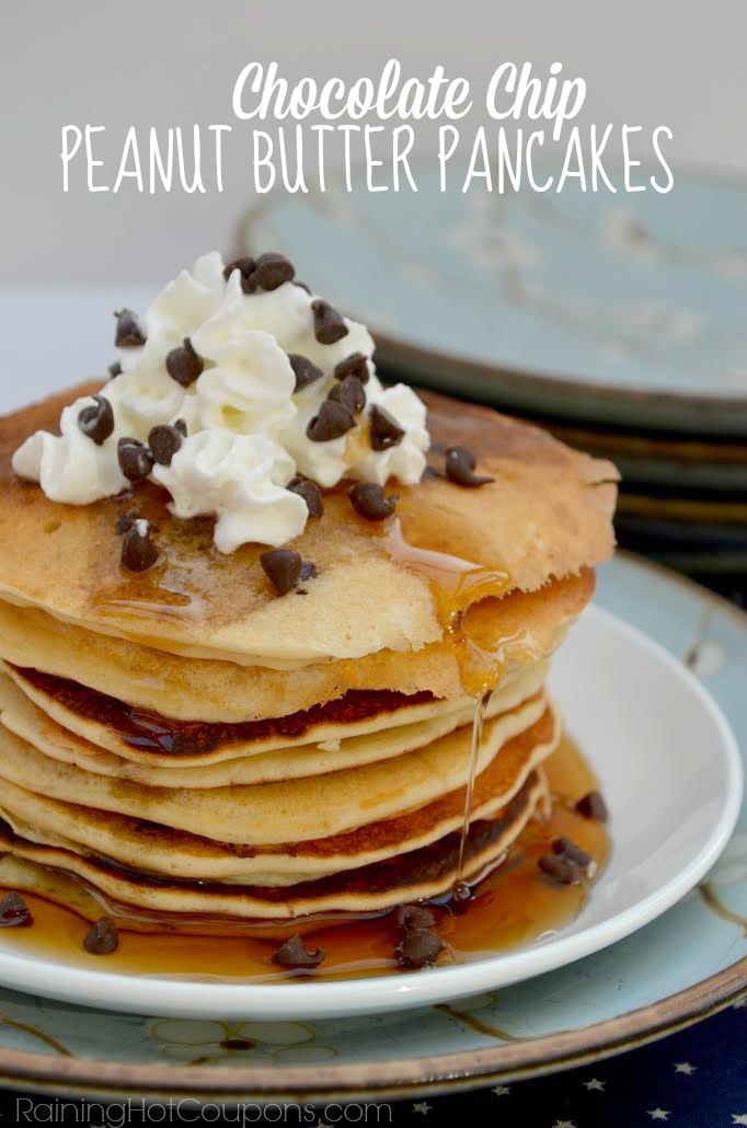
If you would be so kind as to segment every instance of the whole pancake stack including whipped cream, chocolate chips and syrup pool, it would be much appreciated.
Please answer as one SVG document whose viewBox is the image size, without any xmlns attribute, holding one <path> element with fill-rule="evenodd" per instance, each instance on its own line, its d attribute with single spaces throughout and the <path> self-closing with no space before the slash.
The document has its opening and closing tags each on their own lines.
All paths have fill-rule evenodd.
<svg viewBox="0 0 747 1128">
<path fill-rule="evenodd" d="M 0 421 L 0 927 L 318 976 L 468 958 L 501 889 L 493 948 L 570 918 L 604 810 L 545 680 L 614 467 L 385 388 L 278 254 L 204 256 L 115 347 Z"/>
</svg>

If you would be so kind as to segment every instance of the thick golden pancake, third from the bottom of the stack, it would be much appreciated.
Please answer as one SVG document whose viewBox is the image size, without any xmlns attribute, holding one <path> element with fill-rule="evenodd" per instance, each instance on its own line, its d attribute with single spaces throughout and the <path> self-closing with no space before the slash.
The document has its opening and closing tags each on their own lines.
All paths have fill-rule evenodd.
<svg viewBox="0 0 747 1128">
<path fill-rule="evenodd" d="M 476 770 L 546 710 L 542 695 L 487 721 Z M 392 760 L 323 776 L 258 786 L 143 787 L 53 760 L 7 729 L 0 733 L 0 778 L 65 802 L 113 811 L 251 846 L 327 838 L 423 807 L 469 775 L 472 726 Z"/>
</svg>

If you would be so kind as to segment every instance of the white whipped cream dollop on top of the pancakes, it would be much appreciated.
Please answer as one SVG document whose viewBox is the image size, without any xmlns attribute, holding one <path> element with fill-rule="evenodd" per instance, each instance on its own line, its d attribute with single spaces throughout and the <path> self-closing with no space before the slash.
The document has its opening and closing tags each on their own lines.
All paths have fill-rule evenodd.
<svg viewBox="0 0 747 1128">
<path fill-rule="evenodd" d="M 183 271 L 141 319 L 144 342 L 135 337 L 117 350 L 122 371 L 100 389 L 113 428 L 81 428 L 81 412 L 97 402 L 77 399 L 63 409 L 59 435 L 38 431 L 19 447 L 15 472 L 53 501 L 87 505 L 130 487 L 121 439 L 147 444 L 153 428 L 178 422 L 186 431 L 178 450 L 149 476 L 172 495 L 177 518 L 216 517 L 216 546 L 226 554 L 249 541 L 279 547 L 302 531 L 306 502 L 287 488 L 297 475 L 326 488 L 342 478 L 419 482 L 430 444 L 425 408 L 405 385 L 381 386 L 366 327 L 342 318 L 336 333 L 319 331 L 317 297 L 292 281 L 245 289 L 252 288 L 241 271 L 228 271 L 218 253 Z M 186 386 L 167 368 L 185 340 L 202 369 Z M 315 441 L 309 424 L 340 385 L 335 367 L 353 354 L 362 354 L 368 371 L 366 406 L 344 434 Z M 322 374 L 296 390 L 291 356 Z M 394 441 L 372 440 L 374 407 L 394 424 Z"/>
</svg>

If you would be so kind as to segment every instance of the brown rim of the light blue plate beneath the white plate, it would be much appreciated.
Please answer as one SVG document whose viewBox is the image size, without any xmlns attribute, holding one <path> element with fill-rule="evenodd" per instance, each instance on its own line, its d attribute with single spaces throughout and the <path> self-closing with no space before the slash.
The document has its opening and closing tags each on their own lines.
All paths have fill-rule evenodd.
<svg viewBox="0 0 747 1128">
<path fill-rule="evenodd" d="M 701 603 L 710 603 L 744 629 L 744 614 L 721 596 L 651 561 L 621 552 L 624 563 L 650 571 L 684 588 Z M 98 1061 L 93 1058 L 54 1058 L 49 1055 L 0 1049 L 0 1083 L 36 1092 L 74 1092 L 79 1095 L 132 1094 L 157 1099 L 159 1093 L 197 1092 L 223 1096 L 248 1094 L 261 1101 L 287 1094 L 314 1099 L 420 1093 L 478 1087 L 493 1079 L 520 1079 L 600 1060 L 684 1029 L 747 996 L 747 957 L 706 979 L 644 1007 L 629 1011 L 579 1030 L 546 1034 L 526 1042 L 481 1050 L 460 1050 L 436 1057 L 405 1058 L 394 1063 L 337 1066 L 291 1066 L 282 1072 L 282 1086 L 266 1066 L 230 1067 L 220 1072 L 174 1064 L 148 1065 Z M 86 1086 L 86 1091 L 81 1089 Z M 274 1087 L 273 1087 L 274 1086 Z"/>
</svg>

